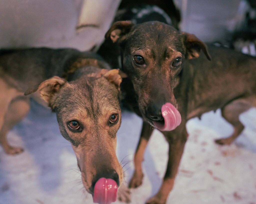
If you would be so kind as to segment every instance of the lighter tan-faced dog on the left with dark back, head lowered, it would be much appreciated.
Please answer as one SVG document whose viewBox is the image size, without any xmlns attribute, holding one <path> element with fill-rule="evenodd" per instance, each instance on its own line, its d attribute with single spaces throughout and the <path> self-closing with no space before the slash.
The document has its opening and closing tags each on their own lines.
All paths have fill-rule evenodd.
<svg viewBox="0 0 256 204">
<path fill-rule="evenodd" d="M 122 183 L 123 170 L 115 154 L 121 124 L 119 70 L 110 70 L 91 52 L 49 48 L 1 50 L 0 67 L 0 143 L 7 154 L 23 151 L 9 145 L 6 135 L 26 116 L 26 95 L 40 100 L 32 94 L 37 91 L 56 112 L 60 132 L 76 154 L 86 190 L 93 194 L 101 177 L 113 179 L 118 186 Z M 128 191 L 122 190 L 121 199 L 129 201 Z"/>
</svg>

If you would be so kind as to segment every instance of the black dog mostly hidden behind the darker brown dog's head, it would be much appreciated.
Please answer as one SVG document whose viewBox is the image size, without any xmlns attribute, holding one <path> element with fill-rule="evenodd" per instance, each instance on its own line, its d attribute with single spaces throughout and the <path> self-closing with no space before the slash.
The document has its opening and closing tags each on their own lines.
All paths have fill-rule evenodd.
<svg viewBox="0 0 256 204">
<path fill-rule="evenodd" d="M 173 1 L 168 1 L 168 5 L 165 3 L 166 1 L 162 0 L 152 0 L 148 1 L 148 3 L 144 0 L 123 0 L 119 10 L 116 12 L 113 22 L 131 20 L 134 24 L 139 24 L 157 19 L 168 25 L 173 25 L 178 29 L 178 22 L 180 21 L 179 10 L 172 6 L 174 5 Z M 106 52 L 106 50 L 108 50 L 108 52 Z M 120 46 L 118 44 L 113 44 L 111 39 L 105 39 L 104 43 L 97 51 L 100 56 L 104 56 L 104 59 L 115 68 L 122 67 L 121 52 L 122 50 L 120 49 Z"/>
</svg>

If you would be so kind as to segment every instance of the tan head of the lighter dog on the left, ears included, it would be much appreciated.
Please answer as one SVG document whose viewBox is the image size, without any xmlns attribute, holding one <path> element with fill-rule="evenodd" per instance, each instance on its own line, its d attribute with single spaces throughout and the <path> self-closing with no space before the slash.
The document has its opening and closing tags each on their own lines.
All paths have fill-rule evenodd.
<svg viewBox="0 0 256 204">
<path fill-rule="evenodd" d="M 121 185 L 123 170 L 116 157 L 116 132 L 121 125 L 118 70 L 101 70 L 99 77 L 67 82 L 54 77 L 39 87 L 41 97 L 56 111 L 59 129 L 71 142 L 82 182 L 89 193 L 99 175 L 114 171 Z M 32 87 L 27 93 L 36 91 Z M 108 176 L 108 175 L 106 175 Z"/>
</svg>

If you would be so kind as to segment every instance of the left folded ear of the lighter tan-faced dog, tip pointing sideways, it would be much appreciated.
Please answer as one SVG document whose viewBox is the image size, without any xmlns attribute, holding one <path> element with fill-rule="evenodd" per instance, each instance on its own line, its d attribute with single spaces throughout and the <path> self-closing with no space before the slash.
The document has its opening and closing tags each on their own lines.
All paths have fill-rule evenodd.
<svg viewBox="0 0 256 204">
<path fill-rule="evenodd" d="M 48 103 L 48 105 L 53 108 L 52 99 L 54 98 L 55 94 L 60 91 L 60 88 L 66 83 L 65 79 L 60 77 L 52 77 L 48 80 L 43 81 L 42 83 L 30 87 L 24 95 L 32 94 L 36 91 L 40 92 L 41 98 Z"/>
</svg>

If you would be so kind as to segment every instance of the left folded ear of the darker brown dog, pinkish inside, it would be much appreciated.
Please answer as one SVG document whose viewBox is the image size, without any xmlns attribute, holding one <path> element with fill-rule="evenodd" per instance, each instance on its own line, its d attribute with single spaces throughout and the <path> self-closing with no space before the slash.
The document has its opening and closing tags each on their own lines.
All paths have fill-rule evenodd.
<svg viewBox="0 0 256 204">
<path fill-rule="evenodd" d="M 132 21 L 117 21 L 106 32 L 105 39 L 110 38 L 114 43 L 121 43 L 127 38 L 127 34 L 131 31 L 133 25 Z"/>
</svg>

